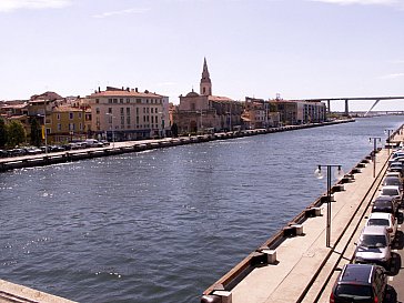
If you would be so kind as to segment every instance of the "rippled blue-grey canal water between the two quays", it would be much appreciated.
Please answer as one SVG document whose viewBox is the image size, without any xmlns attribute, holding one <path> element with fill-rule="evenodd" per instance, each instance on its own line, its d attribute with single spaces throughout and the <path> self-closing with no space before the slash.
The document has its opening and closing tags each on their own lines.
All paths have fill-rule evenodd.
<svg viewBox="0 0 404 303">
<path fill-rule="evenodd" d="M 0 174 L 0 279 L 79 302 L 199 302 L 403 117 Z"/>
</svg>

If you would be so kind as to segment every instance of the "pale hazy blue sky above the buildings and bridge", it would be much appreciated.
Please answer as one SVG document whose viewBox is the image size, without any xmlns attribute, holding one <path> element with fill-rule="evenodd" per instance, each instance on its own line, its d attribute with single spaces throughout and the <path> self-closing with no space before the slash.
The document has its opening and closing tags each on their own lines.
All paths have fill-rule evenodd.
<svg viewBox="0 0 404 303">
<path fill-rule="evenodd" d="M 0 0 L 0 100 L 114 85 L 178 103 L 204 57 L 234 100 L 404 95 L 404 0 Z"/>
</svg>

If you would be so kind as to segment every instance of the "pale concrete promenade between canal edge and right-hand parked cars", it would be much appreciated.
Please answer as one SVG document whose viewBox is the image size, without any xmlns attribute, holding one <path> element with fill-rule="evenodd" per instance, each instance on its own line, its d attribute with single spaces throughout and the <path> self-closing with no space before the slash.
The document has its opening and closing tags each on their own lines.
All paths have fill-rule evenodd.
<svg viewBox="0 0 404 303">
<path fill-rule="evenodd" d="M 403 135 L 396 134 L 394 140 L 403 141 Z M 231 286 L 219 280 L 209 289 L 209 293 L 204 292 L 201 302 L 329 302 L 332 285 L 339 274 L 336 269 L 352 261 L 354 242 L 370 212 L 370 202 L 378 194 L 388 156 L 386 149 L 376 154 L 375 178 L 374 163 L 362 164 L 360 172 L 354 174 L 353 182 L 344 183 L 344 190 L 333 194 L 331 248 L 326 248 L 326 203 L 323 203 L 321 216 L 309 218 L 301 224 L 302 234 L 286 236 L 275 249 L 269 248 L 271 255 L 266 264 L 264 262 L 251 266 L 245 276 L 235 279 L 240 281 L 228 284 Z M 396 257 L 393 266 L 397 269 L 393 267 L 392 272 L 398 273 L 401 260 Z"/>
</svg>

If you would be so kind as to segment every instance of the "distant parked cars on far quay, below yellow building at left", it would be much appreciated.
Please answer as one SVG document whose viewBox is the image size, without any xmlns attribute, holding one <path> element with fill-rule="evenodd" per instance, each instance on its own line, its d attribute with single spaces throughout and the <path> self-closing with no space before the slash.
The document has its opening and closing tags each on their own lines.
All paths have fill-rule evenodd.
<svg viewBox="0 0 404 303">
<path fill-rule="evenodd" d="M 95 139 L 87 139 L 84 141 L 70 142 L 68 144 L 62 145 L 48 145 L 48 147 L 24 147 L 17 148 L 11 150 L 0 150 L 0 158 L 10 158 L 10 156 L 20 156 L 20 155 L 29 155 L 29 154 L 40 154 L 48 152 L 61 152 L 61 151 L 70 151 L 70 150 L 79 150 L 79 149 L 88 149 L 88 148 L 102 148 L 109 145 L 110 142 L 107 140 L 98 141 Z"/>
</svg>

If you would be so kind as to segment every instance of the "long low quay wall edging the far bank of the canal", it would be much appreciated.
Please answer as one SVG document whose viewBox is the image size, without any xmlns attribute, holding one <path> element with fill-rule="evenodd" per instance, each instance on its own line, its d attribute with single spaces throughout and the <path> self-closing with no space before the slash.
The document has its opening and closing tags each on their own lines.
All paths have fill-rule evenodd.
<svg viewBox="0 0 404 303">
<path fill-rule="evenodd" d="M 228 140 L 228 139 L 243 138 L 250 135 L 286 132 L 286 131 L 319 128 L 319 127 L 326 127 L 326 125 L 334 125 L 334 124 L 350 123 L 350 122 L 355 122 L 355 120 L 345 119 L 345 120 L 334 120 L 323 123 L 287 125 L 287 127 L 271 128 L 271 129 L 255 129 L 255 130 L 244 130 L 238 132 L 221 132 L 214 134 L 200 134 L 200 135 L 180 137 L 180 138 L 114 142 L 112 147 L 110 145 L 104 148 L 90 148 L 90 149 L 73 150 L 67 152 L 52 152 L 48 154 L 4 158 L 0 159 L 0 172 L 6 172 L 14 169 L 23 169 L 23 168 L 44 166 L 50 164 L 59 164 L 59 163 L 117 155 L 130 152 L 141 152 L 147 150 L 170 148 L 190 143 Z"/>
</svg>

